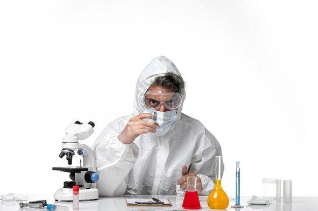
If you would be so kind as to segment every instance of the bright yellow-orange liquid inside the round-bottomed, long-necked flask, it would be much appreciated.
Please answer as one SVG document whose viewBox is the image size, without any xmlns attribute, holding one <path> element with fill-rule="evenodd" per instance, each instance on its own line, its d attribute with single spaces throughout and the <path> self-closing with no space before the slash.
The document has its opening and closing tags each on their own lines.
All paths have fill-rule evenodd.
<svg viewBox="0 0 318 211">
<path fill-rule="evenodd" d="M 211 209 L 225 209 L 229 206 L 229 197 L 221 187 L 221 180 L 215 180 L 215 187 L 208 197 Z"/>
</svg>

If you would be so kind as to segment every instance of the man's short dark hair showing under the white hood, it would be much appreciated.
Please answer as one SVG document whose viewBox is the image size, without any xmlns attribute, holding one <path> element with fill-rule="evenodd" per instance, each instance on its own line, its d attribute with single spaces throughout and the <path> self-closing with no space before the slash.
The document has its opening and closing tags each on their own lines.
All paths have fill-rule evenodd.
<svg viewBox="0 0 318 211">
<path fill-rule="evenodd" d="M 172 92 L 183 94 L 185 82 L 180 75 L 173 72 L 167 72 L 163 76 L 156 76 L 150 86 L 160 86 L 171 89 Z"/>
</svg>

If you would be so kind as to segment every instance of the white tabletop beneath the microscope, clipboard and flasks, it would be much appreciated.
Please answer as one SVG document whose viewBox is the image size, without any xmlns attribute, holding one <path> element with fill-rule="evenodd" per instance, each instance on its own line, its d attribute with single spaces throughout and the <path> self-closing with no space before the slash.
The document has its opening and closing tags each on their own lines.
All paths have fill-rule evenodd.
<svg viewBox="0 0 318 211">
<path fill-rule="evenodd" d="M 152 196 L 122 196 L 122 197 L 100 197 L 99 200 L 96 201 L 85 201 L 80 202 L 80 209 L 82 211 L 131 211 L 131 210 L 185 210 L 182 209 L 182 201 L 183 198 L 177 197 L 177 196 L 153 196 L 156 198 L 168 198 L 173 206 L 169 207 L 145 207 L 145 206 L 126 206 L 125 198 L 149 198 L 151 199 Z M 244 206 L 244 208 L 236 209 L 240 211 L 247 211 L 247 210 L 266 210 L 266 211 L 311 211 L 311 210 L 318 210 L 318 197 L 293 197 L 293 203 L 277 203 L 273 202 L 270 205 L 251 205 L 247 204 L 246 201 L 248 201 L 251 198 L 251 196 L 247 197 L 241 197 L 241 205 Z M 28 200 L 23 201 L 35 201 L 35 200 L 47 200 L 48 203 L 54 203 L 56 205 L 65 205 L 69 207 L 69 210 L 72 209 L 72 202 L 56 202 L 53 199 L 53 195 L 28 195 Z M 213 210 L 208 208 L 207 206 L 207 196 L 200 196 L 200 202 L 202 209 L 200 210 Z M 234 208 L 231 208 L 231 205 L 234 205 L 234 201 L 230 201 L 230 204 L 227 209 L 224 210 L 233 210 L 236 211 Z M 0 204 L 0 211 L 17 211 L 19 209 L 19 202 L 13 204 L 12 201 L 2 201 Z M 40 209 L 40 210 L 46 210 L 46 209 Z"/>
</svg>

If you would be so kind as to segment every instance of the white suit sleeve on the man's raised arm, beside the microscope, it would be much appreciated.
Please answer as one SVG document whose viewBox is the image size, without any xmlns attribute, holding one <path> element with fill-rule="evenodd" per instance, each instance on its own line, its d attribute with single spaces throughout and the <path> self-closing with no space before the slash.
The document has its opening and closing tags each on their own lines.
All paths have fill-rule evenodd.
<svg viewBox="0 0 318 211">
<path fill-rule="evenodd" d="M 92 145 L 100 176 L 97 182 L 100 196 L 121 196 L 125 193 L 128 175 L 138 157 L 139 149 L 134 142 L 123 144 L 117 138 L 124 122 L 119 118 L 107 125 Z"/>
</svg>

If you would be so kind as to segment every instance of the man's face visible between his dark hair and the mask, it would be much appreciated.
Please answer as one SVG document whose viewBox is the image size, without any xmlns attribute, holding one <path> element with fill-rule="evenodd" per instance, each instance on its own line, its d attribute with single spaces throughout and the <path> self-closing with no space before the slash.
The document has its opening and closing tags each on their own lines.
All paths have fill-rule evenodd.
<svg viewBox="0 0 318 211">
<path fill-rule="evenodd" d="M 161 112 L 176 110 L 181 102 L 182 98 L 179 93 L 160 86 L 149 87 L 144 96 L 144 104 L 147 108 Z"/>
</svg>

